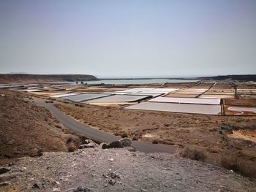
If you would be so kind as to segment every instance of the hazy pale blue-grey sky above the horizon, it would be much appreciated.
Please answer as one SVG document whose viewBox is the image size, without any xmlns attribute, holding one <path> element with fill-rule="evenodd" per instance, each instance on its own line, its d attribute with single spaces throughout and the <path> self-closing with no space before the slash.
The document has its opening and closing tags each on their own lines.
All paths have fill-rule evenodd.
<svg viewBox="0 0 256 192">
<path fill-rule="evenodd" d="M 255 0 L 0 0 L 0 73 L 256 74 Z"/>
</svg>

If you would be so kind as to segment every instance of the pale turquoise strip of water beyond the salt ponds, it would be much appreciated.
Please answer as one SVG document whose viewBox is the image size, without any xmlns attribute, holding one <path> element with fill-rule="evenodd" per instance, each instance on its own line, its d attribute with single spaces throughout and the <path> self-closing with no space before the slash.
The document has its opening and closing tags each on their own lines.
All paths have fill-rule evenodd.
<svg viewBox="0 0 256 192">
<path fill-rule="evenodd" d="M 132 80 L 97 80 L 97 81 L 84 81 L 83 83 L 87 83 L 89 85 L 95 84 L 111 84 L 111 85 L 130 85 L 130 84 L 152 84 L 152 83 L 165 83 L 165 82 L 197 82 L 197 80 L 178 80 L 178 79 L 132 79 Z M 71 83 L 74 84 L 75 82 L 62 82 L 62 83 Z M 80 82 L 79 82 L 80 84 Z"/>
</svg>

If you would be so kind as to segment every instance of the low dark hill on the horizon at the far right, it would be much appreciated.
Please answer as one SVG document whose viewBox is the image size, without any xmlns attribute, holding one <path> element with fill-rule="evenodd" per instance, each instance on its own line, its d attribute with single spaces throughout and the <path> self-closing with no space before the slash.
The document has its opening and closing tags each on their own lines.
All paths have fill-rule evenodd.
<svg viewBox="0 0 256 192">
<path fill-rule="evenodd" d="M 241 80 L 241 81 L 256 81 L 256 74 L 232 74 L 219 75 L 213 77 L 199 77 L 199 80 Z"/>
</svg>

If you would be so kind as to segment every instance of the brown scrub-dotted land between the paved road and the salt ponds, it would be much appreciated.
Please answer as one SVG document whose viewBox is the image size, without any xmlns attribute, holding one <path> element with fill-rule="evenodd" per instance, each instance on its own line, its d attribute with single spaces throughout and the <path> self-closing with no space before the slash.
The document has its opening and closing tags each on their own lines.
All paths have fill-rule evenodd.
<svg viewBox="0 0 256 192">
<path fill-rule="evenodd" d="M 56 106 L 93 128 L 131 139 L 174 145 L 184 157 L 256 177 L 256 116 L 135 111 L 86 104 L 80 107 L 72 104 Z"/>
</svg>

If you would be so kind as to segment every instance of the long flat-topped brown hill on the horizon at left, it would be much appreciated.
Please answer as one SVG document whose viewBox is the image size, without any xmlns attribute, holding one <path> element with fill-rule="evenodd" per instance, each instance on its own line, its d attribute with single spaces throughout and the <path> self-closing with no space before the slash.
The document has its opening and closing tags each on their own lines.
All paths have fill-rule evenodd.
<svg viewBox="0 0 256 192">
<path fill-rule="evenodd" d="M 0 83 L 39 83 L 59 81 L 90 81 L 98 80 L 89 74 L 0 74 Z"/>
</svg>

